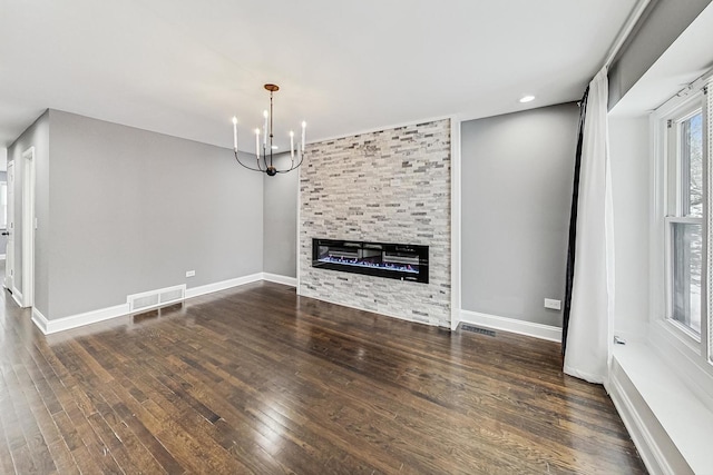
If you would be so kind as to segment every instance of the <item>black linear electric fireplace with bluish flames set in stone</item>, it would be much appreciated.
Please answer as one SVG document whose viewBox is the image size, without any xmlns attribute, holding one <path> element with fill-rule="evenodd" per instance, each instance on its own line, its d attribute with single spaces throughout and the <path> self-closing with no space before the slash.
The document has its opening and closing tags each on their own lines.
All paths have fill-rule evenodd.
<svg viewBox="0 0 713 475">
<path fill-rule="evenodd" d="M 428 284 L 428 246 L 313 238 L 312 267 Z"/>
</svg>

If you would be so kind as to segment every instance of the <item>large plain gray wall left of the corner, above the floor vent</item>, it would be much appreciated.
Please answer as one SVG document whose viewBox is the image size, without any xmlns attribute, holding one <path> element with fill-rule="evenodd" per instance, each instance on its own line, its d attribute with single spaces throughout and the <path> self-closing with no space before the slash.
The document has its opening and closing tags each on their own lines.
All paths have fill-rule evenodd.
<svg viewBox="0 0 713 475">
<path fill-rule="evenodd" d="M 263 180 L 231 150 L 56 110 L 49 117 L 51 240 L 38 235 L 51 266 L 46 317 L 262 271 Z"/>
</svg>

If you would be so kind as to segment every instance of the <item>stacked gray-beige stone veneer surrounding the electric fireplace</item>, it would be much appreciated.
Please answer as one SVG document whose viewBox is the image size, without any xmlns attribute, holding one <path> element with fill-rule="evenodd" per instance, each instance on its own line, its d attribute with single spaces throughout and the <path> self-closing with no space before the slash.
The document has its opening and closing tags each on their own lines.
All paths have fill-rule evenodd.
<svg viewBox="0 0 713 475">
<path fill-rule="evenodd" d="M 450 326 L 450 120 L 311 145 L 300 170 L 300 295 Z M 429 246 L 429 284 L 312 267 L 312 238 Z"/>
</svg>

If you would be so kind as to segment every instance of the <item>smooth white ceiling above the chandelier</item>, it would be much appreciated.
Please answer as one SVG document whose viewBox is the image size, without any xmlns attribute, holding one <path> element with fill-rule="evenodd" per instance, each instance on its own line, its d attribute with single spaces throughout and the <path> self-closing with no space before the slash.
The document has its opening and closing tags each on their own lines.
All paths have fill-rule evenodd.
<svg viewBox="0 0 713 475">
<path fill-rule="evenodd" d="M 250 151 L 265 82 L 307 141 L 576 100 L 635 4 L 0 0 L 0 147 L 53 108 Z"/>
</svg>

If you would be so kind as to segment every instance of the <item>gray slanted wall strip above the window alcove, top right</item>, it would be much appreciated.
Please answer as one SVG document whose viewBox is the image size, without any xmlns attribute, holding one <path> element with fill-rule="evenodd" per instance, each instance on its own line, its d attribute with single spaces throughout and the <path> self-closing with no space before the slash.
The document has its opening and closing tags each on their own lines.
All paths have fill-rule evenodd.
<svg viewBox="0 0 713 475">
<path fill-rule="evenodd" d="M 609 110 L 711 0 L 652 0 L 609 68 Z"/>
</svg>

